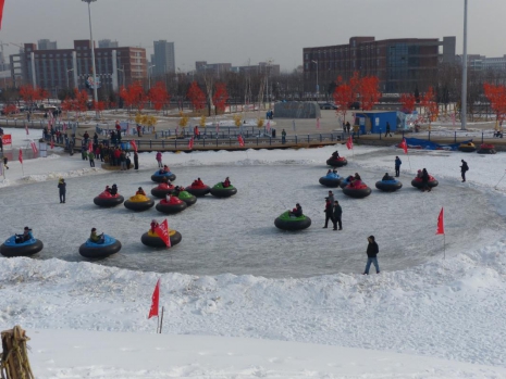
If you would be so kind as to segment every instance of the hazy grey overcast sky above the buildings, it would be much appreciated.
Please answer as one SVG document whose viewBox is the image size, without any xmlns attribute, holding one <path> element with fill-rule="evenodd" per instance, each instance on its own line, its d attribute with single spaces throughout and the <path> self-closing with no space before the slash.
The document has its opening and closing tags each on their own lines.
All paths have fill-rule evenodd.
<svg viewBox="0 0 506 379">
<path fill-rule="evenodd" d="M 175 42 L 176 67 L 195 61 L 244 65 L 273 60 L 283 71 L 303 63 L 303 48 L 347 43 L 353 36 L 457 37 L 462 50 L 464 0 L 98 0 L 94 39 L 147 48 Z M 506 0 L 469 0 L 468 53 L 506 54 Z M 89 38 L 82 0 L 5 0 L 0 40 L 58 40 L 71 48 Z M 4 47 L 7 54 L 17 48 Z"/>
</svg>

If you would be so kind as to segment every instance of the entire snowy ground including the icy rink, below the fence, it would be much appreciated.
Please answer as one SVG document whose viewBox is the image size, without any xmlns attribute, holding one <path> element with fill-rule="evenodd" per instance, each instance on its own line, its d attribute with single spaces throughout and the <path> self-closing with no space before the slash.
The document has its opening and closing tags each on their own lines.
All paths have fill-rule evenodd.
<svg viewBox="0 0 506 379">
<path fill-rule="evenodd" d="M 0 324 L 32 338 L 37 378 L 502 378 L 506 377 L 504 155 L 356 147 L 344 175 L 373 188 L 395 155 L 404 188 L 365 200 L 334 190 L 344 230 L 321 229 L 318 185 L 335 148 L 164 154 L 188 185 L 230 176 L 230 199 L 199 199 L 168 216 L 183 235 L 169 251 L 139 243 L 155 210 L 101 210 L 92 198 L 116 182 L 125 197 L 153 186 L 155 154 L 140 170 L 90 169 L 79 156 L 11 162 L 0 188 L 2 238 L 24 225 L 45 242 L 36 258 L 0 260 Z M 460 160 L 469 166 L 459 181 Z M 431 193 L 410 179 L 427 167 Z M 67 178 L 67 204 L 57 178 Z M 300 202 L 300 233 L 274 218 Z M 443 237 L 434 236 L 441 206 Z M 224 222 L 226 220 L 226 222 Z M 123 242 L 89 263 L 77 254 L 91 226 Z M 380 244 L 380 275 L 362 276 L 366 238 Z M 147 319 L 158 278 L 163 333 Z"/>
</svg>

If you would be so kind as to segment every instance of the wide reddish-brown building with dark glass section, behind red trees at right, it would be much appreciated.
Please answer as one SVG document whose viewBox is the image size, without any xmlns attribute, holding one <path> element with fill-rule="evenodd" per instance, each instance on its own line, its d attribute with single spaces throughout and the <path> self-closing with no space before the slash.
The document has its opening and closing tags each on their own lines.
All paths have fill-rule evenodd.
<svg viewBox="0 0 506 379">
<path fill-rule="evenodd" d="M 424 78 L 437 72 L 440 63 L 455 63 L 455 37 L 375 40 L 351 37 L 349 43 L 305 48 L 305 90 L 319 92 L 338 76 L 348 79 L 354 72 L 380 79 L 382 92 L 423 91 Z M 440 48 L 442 47 L 442 51 Z"/>
</svg>

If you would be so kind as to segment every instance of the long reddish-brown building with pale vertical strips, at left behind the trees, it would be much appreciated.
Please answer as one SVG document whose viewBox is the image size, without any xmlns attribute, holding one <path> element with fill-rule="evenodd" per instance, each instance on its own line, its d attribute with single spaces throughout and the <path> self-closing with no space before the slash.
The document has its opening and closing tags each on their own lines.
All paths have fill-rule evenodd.
<svg viewBox="0 0 506 379">
<path fill-rule="evenodd" d="M 24 52 L 10 56 L 14 86 L 30 84 L 58 93 L 62 88 L 89 88 L 92 78 L 91 48 L 88 39 L 75 40 L 73 49 L 38 50 L 25 43 Z M 116 91 L 119 86 L 147 78 L 146 49 L 95 49 L 97 81 Z"/>
</svg>

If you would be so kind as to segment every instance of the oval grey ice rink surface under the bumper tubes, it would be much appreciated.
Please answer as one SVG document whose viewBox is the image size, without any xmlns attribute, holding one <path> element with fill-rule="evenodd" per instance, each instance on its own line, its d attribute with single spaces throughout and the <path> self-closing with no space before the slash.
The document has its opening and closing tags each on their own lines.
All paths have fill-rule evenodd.
<svg viewBox="0 0 506 379">
<path fill-rule="evenodd" d="M 472 249 L 503 235 L 503 219 L 488 197 L 472 187 L 443 179 L 432 192 L 422 193 L 410 186 L 410 176 L 402 176 L 404 188 L 384 193 L 374 188 L 382 172 L 353 164 L 341 174 L 359 172 L 373 192 L 369 198 L 356 200 L 335 189 L 335 199 L 344 211 L 344 230 L 322 229 L 329 189 L 320 186 L 318 179 L 326 169 L 324 165 L 289 162 L 174 167 L 177 185 L 186 186 L 201 177 L 212 186 L 230 176 L 238 193 L 230 199 L 200 198 L 185 212 L 166 216 L 169 226 L 183 235 L 183 241 L 171 250 L 152 250 L 140 243 L 140 236 L 148 230 L 151 219 L 165 217 L 155 207 L 133 213 L 123 205 L 100 209 L 92 203 L 94 197 L 113 182 L 125 199 L 139 186 L 149 193 L 156 186 L 150 181 L 152 170 L 69 178 L 66 204 L 59 203 L 55 181 L 3 188 L 0 190 L 0 235 L 5 239 L 28 225 L 45 243 L 37 258 L 74 262 L 84 260 L 78 247 L 95 226 L 123 244 L 120 253 L 98 262 L 102 265 L 149 271 L 266 277 L 360 273 L 366 262 L 366 239 L 370 235 L 377 237 L 380 245 L 382 270 L 418 265 L 443 253 L 443 237 L 434 235 L 442 205 L 446 214 L 447 254 Z M 295 233 L 276 229 L 274 218 L 296 202 L 311 217 L 312 226 Z"/>
</svg>

